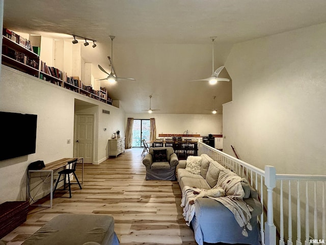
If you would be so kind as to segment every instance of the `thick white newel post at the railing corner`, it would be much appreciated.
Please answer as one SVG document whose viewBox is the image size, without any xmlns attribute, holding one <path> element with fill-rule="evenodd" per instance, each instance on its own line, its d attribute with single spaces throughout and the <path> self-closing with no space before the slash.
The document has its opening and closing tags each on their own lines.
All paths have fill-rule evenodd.
<svg viewBox="0 0 326 245">
<path fill-rule="evenodd" d="M 273 214 L 273 189 L 276 186 L 276 169 L 265 166 L 265 186 L 267 187 L 267 222 L 265 222 L 265 244 L 276 244 L 276 227 Z"/>
</svg>

